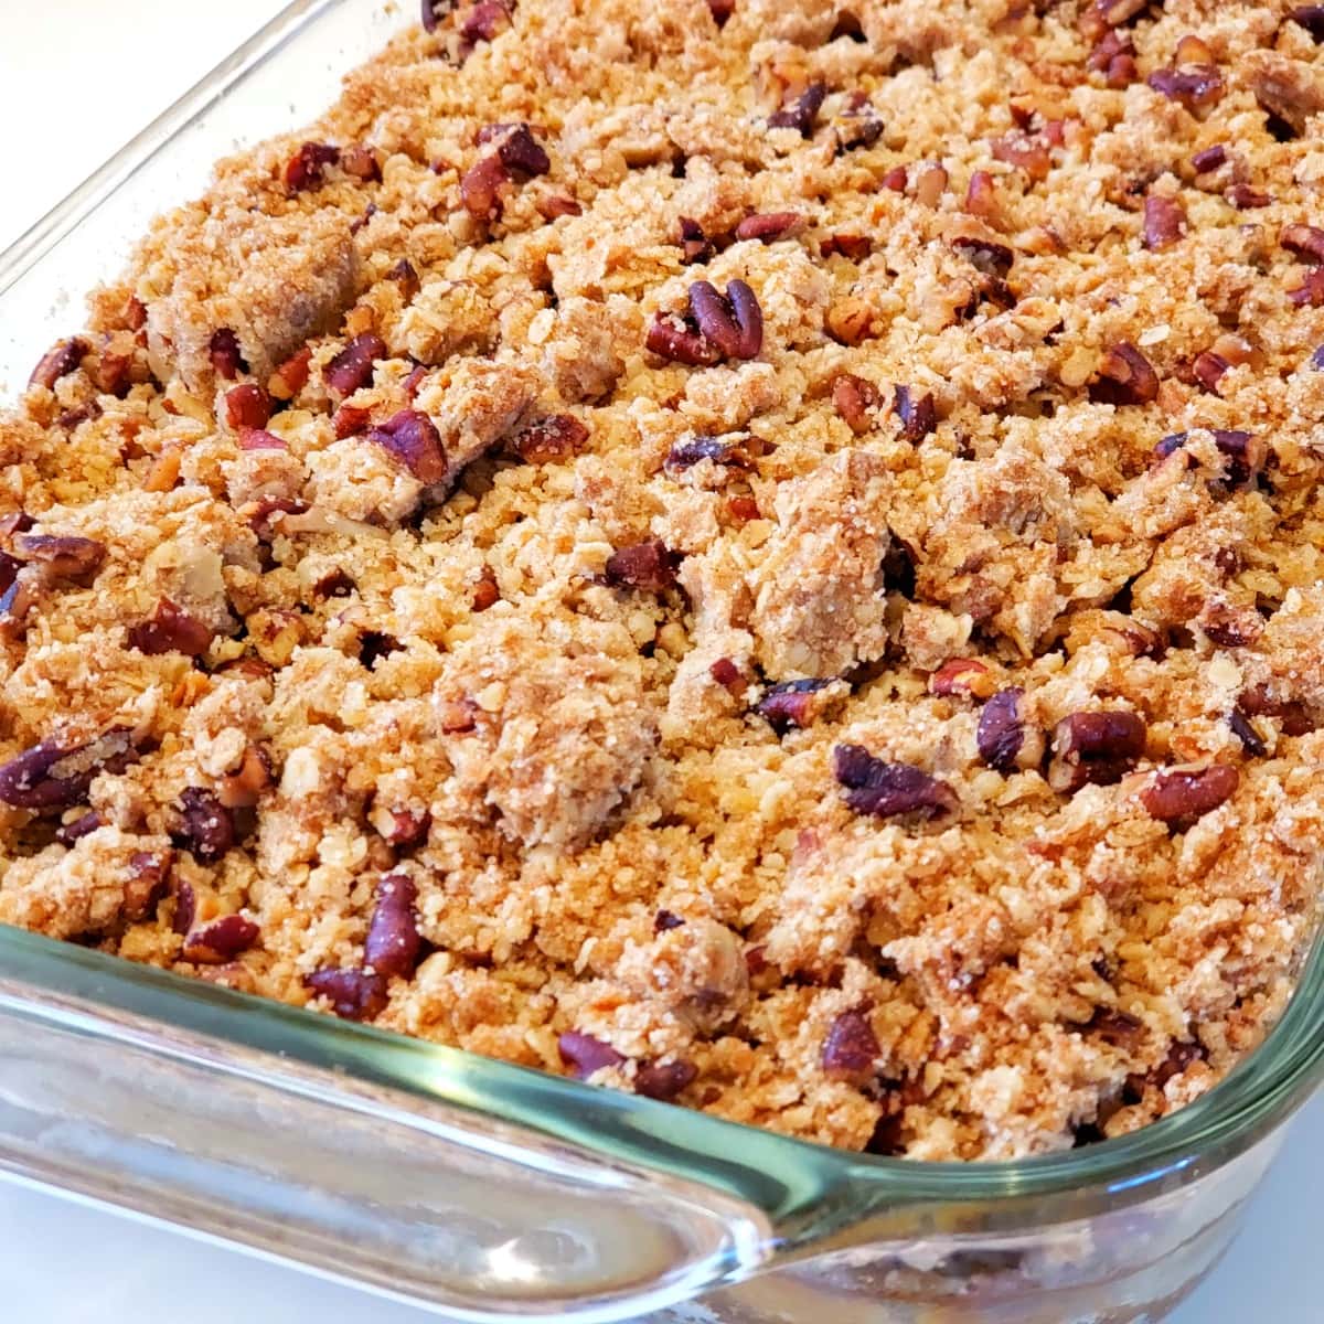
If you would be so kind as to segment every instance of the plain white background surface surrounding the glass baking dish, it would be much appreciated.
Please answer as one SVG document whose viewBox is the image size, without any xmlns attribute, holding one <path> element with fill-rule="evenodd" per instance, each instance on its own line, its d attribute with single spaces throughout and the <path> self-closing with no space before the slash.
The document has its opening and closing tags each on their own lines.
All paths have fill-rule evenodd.
<svg viewBox="0 0 1324 1324">
<path fill-rule="evenodd" d="M 277 0 L 0 0 L 0 249 L 278 8 Z M 1230 1258 L 1172 1324 L 1324 1321 L 1321 1200 L 1324 1100 L 1316 1100 Z M 7 1184 L 0 1290 L 0 1316 L 16 1324 L 426 1319 Z"/>
</svg>

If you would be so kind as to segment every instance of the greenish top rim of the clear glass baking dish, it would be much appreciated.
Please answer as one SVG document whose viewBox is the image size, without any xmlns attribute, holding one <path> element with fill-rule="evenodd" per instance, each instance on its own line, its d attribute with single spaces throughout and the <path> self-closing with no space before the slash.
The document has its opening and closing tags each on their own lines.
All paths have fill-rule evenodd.
<svg viewBox="0 0 1324 1324">
<path fill-rule="evenodd" d="M 278 54 L 305 24 L 346 3 L 294 0 L 0 252 L 0 308 L 5 290 L 74 226 L 94 218 L 158 150 L 241 87 L 245 74 Z M 0 925 L 0 981 L 5 978 L 44 994 L 94 998 L 218 1045 L 277 1053 L 481 1112 L 605 1161 L 666 1166 L 753 1200 L 777 1218 L 786 1245 L 801 1237 L 821 1239 L 822 1221 L 813 1215 L 829 1196 L 845 1200 L 854 1217 L 923 1204 L 1019 1205 L 1072 1192 L 1129 1202 L 1157 1182 L 1181 1180 L 1188 1169 L 1205 1172 L 1231 1161 L 1283 1123 L 1324 1078 L 1324 935 L 1266 1041 L 1201 1099 L 1124 1137 L 992 1162 L 916 1162 L 831 1149 Z M 760 1184 L 760 1172 L 779 1176 Z M 842 1226 L 841 1210 L 829 1222 Z"/>
</svg>

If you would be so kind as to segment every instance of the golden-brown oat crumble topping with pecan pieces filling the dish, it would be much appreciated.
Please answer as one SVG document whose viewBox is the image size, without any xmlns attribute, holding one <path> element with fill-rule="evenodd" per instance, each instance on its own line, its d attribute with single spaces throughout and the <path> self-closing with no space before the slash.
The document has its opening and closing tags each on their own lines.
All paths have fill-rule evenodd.
<svg viewBox="0 0 1324 1324">
<path fill-rule="evenodd" d="M 914 1158 L 1207 1090 L 1324 849 L 1324 7 L 448 11 L 0 418 L 0 920 Z"/>
</svg>

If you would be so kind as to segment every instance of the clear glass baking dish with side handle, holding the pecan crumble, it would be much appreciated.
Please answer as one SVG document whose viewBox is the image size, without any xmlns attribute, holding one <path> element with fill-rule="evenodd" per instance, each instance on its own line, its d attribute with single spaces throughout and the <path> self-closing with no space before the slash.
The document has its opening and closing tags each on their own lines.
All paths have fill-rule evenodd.
<svg viewBox="0 0 1324 1324">
<path fill-rule="evenodd" d="M 221 155 L 414 20 L 299 0 L 0 256 L 0 396 Z M 1217 1262 L 1324 1072 L 1324 955 L 1144 1131 L 1019 1162 L 788 1140 L 0 927 L 0 1172 L 458 1320 L 1123 1324 Z"/>
</svg>

